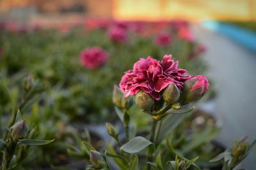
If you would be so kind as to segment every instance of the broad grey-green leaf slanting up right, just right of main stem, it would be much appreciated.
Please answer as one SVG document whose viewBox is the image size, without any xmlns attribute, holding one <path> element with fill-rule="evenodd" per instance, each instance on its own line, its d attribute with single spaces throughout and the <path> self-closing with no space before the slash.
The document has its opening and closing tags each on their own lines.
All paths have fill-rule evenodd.
<svg viewBox="0 0 256 170">
<path fill-rule="evenodd" d="M 166 135 L 170 134 L 172 130 L 179 125 L 179 123 L 185 118 L 187 114 L 169 114 L 166 116 L 166 118 L 163 120 L 161 130 L 159 131 L 159 127 L 157 127 L 156 132 L 159 132 L 158 139 L 156 140 L 156 146 L 158 146 L 166 137 Z"/>
</svg>

